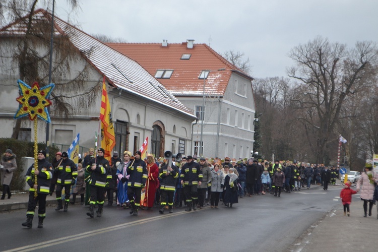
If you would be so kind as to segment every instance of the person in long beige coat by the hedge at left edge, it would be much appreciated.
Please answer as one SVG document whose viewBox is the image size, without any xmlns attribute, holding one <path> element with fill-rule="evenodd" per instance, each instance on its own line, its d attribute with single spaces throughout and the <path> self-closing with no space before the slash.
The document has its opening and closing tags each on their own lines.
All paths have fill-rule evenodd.
<svg viewBox="0 0 378 252">
<path fill-rule="evenodd" d="M 5 199 L 6 193 L 8 193 L 8 199 L 11 199 L 12 194 L 10 185 L 13 177 L 13 172 L 17 169 L 16 155 L 13 154 L 11 149 L 7 149 L 5 151 L 0 164 L 2 165 L 2 168 L 0 169 L 0 177 L 3 184 L 2 200 Z"/>
</svg>

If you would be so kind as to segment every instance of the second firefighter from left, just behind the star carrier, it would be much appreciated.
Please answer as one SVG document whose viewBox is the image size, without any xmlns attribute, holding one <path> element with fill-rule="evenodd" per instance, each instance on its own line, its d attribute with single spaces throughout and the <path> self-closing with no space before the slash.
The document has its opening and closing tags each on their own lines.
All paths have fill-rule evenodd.
<svg viewBox="0 0 378 252">
<path fill-rule="evenodd" d="M 70 193 L 71 193 L 71 185 L 75 184 L 75 179 L 78 176 L 78 168 L 76 167 L 74 161 L 68 158 L 67 152 L 61 153 L 62 161 L 60 162 L 58 167 L 55 167 L 55 172 L 57 173 L 57 180 L 56 180 L 56 201 L 58 205 L 55 211 L 59 211 L 63 208 L 62 200 L 61 200 L 61 190 L 65 188 L 65 209 L 64 212 L 68 210 L 68 203 L 70 202 Z"/>
</svg>

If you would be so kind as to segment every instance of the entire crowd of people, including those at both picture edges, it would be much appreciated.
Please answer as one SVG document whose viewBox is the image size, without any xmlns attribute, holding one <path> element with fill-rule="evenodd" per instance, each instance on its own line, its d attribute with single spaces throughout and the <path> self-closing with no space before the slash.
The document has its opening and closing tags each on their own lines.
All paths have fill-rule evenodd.
<svg viewBox="0 0 378 252">
<path fill-rule="evenodd" d="M 38 152 L 38 167 L 31 165 L 26 173 L 26 181 L 30 186 L 27 220 L 22 223 L 32 227 L 34 211 L 38 208 L 38 228 L 43 227 L 45 218 L 46 196 L 55 191 L 56 211 L 68 211 L 69 203 L 75 204 L 76 196 L 80 195 L 80 204 L 89 205 L 87 215 L 101 217 L 105 195 L 108 206 L 113 206 L 115 193 L 116 205 L 130 209 L 130 214 L 137 216 L 138 211 L 150 210 L 156 206 L 159 213 L 165 210 L 173 213 L 174 208 L 185 207 L 185 211 L 203 209 L 205 206 L 218 208 L 219 202 L 232 208 L 239 198 L 255 195 L 272 194 L 281 197 L 281 193 L 310 190 L 311 184 L 323 185 L 328 190 L 329 184 L 335 184 L 339 177 L 336 167 L 323 164 L 267 160 L 197 158 L 186 156 L 182 160 L 159 160 L 149 154 L 142 160 L 142 153 L 137 151 L 123 152 L 123 159 L 113 152 L 111 163 L 104 158 L 105 151 L 100 148 L 97 156 L 90 149 L 88 155 L 76 166 L 68 158 L 67 152 L 57 152 L 52 163 L 46 159 L 46 152 Z M 2 159 L 3 197 L 8 192 L 12 173 L 17 165 L 15 155 L 7 150 Z M 6 176 L 8 175 L 8 176 Z M 8 178 L 8 180 L 7 180 Z M 344 212 L 350 216 L 349 205 L 351 195 L 361 190 L 361 200 L 364 202 L 364 217 L 371 216 L 371 210 L 378 200 L 378 174 L 372 172 L 372 167 L 366 167 L 357 183 L 357 191 L 350 189 L 350 183 L 340 197 Z M 7 184 L 8 183 L 8 184 Z M 72 188 L 73 187 L 73 188 Z M 64 197 L 62 190 L 65 190 Z M 72 199 L 70 199 L 72 195 Z M 64 201 L 64 204 L 63 204 Z M 369 205 L 369 206 L 368 206 Z"/>
</svg>

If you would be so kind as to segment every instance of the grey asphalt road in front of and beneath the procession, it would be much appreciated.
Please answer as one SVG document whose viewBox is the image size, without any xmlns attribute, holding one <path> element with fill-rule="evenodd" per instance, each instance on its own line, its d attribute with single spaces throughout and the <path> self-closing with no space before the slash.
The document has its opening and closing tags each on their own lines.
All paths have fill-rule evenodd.
<svg viewBox="0 0 378 252">
<path fill-rule="evenodd" d="M 234 208 L 161 215 L 158 208 L 129 215 L 104 207 L 102 218 L 90 219 L 87 207 L 67 213 L 48 207 L 44 228 L 21 226 L 26 210 L 0 214 L 0 250 L 10 251 L 284 251 L 312 223 L 331 211 L 340 188 L 320 186 L 281 198 L 272 195 L 239 199 Z M 166 211 L 167 212 L 167 211 Z"/>
</svg>

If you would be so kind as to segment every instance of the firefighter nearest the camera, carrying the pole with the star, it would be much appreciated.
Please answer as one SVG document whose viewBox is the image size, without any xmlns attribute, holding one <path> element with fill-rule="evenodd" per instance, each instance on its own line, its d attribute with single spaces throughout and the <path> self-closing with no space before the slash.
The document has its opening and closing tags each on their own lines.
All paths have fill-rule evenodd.
<svg viewBox="0 0 378 252">
<path fill-rule="evenodd" d="M 50 180 L 54 174 L 52 165 L 45 159 L 46 151 L 38 152 L 38 167 L 35 169 L 34 164 L 31 165 L 26 172 L 26 182 L 29 184 L 29 202 L 26 212 L 26 222 L 22 223 L 24 227 L 31 228 L 33 226 L 34 210 L 38 202 L 38 228 L 43 227 L 43 219 L 46 217 L 46 197 L 50 193 Z M 37 184 L 35 184 L 35 175 L 37 176 Z M 37 191 L 37 197 L 35 197 Z"/>
</svg>

